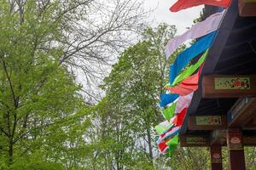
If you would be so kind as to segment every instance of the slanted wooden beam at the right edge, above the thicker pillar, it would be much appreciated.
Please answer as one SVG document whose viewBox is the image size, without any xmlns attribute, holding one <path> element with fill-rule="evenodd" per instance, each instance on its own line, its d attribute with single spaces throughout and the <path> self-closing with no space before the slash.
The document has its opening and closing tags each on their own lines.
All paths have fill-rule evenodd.
<svg viewBox="0 0 256 170">
<path fill-rule="evenodd" d="M 228 111 L 229 127 L 246 127 L 256 114 L 256 98 L 240 98 Z"/>
</svg>

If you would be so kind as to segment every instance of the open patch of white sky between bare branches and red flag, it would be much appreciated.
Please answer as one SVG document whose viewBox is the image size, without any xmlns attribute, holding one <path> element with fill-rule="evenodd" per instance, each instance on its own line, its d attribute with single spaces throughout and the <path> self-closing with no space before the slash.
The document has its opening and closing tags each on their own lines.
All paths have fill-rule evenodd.
<svg viewBox="0 0 256 170">
<path fill-rule="evenodd" d="M 186 27 L 192 26 L 195 18 L 199 17 L 203 5 L 172 13 L 169 8 L 176 1 L 177 0 L 145 0 L 145 8 L 154 9 L 150 19 L 154 20 L 155 26 L 164 21 L 169 25 L 176 25 L 177 33 L 181 34 L 186 31 Z"/>
</svg>

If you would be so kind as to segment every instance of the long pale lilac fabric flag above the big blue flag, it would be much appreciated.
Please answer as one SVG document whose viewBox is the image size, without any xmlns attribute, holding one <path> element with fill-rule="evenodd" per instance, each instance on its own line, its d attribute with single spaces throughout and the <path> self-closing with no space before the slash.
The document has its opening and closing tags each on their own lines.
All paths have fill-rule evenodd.
<svg viewBox="0 0 256 170">
<path fill-rule="evenodd" d="M 198 37 L 203 37 L 212 31 L 218 30 L 220 21 L 223 18 L 224 12 L 212 14 L 206 20 L 197 23 L 192 26 L 189 31 L 186 31 L 183 35 L 172 38 L 165 49 L 166 58 L 169 58 L 172 53 L 185 41 L 189 39 L 195 39 Z"/>
</svg>

